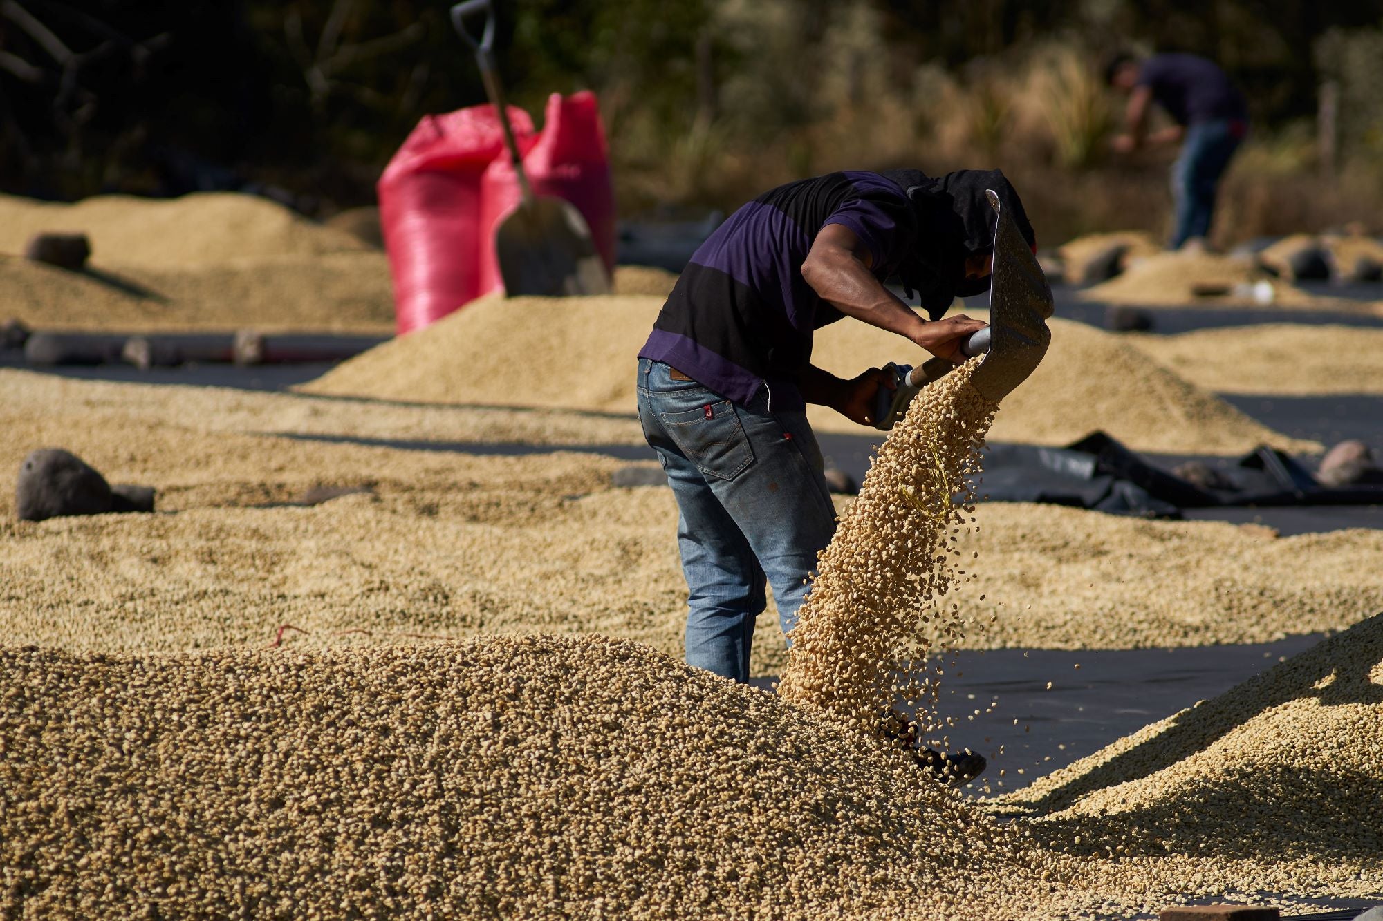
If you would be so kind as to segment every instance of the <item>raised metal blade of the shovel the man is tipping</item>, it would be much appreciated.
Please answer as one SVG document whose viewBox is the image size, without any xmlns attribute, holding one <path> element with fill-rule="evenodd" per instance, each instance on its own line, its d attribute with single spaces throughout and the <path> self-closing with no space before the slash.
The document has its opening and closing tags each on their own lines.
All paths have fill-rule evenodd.
<svg viewBox="0 0 1383 921">
<path fill-rule="evenodd" d="M 1051 286 L 1014 218 L 987 192 L 994 209 L 994 263 L 989 281 L 989 350 L 971 384 L 993 402 L 1028 379 L 1047 354 Z"/>
</svg>

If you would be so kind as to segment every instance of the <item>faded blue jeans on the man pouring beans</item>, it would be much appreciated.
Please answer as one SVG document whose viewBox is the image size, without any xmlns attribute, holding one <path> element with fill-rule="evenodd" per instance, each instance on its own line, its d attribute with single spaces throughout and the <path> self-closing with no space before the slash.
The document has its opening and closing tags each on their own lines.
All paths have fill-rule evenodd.
<svg viewBox="0 0 1383 921">
<path fill-rule="evenodd" d="M 639 420 L 680 510 L 686 660 L 747 682 L 765 584 L 786 633 L 835 531 L 822 449 L 805 411 L 769 411 L 766 387 L 739 405 L 669 372 L 639 360 Z"/>
</svg>

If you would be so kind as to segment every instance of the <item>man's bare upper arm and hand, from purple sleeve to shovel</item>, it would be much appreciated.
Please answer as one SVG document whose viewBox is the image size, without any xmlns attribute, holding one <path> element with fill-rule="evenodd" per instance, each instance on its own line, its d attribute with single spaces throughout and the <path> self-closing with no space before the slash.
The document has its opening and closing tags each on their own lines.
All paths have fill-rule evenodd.
<svg viewBox="0 0 1383 921">
<path fill-rule="evenodd" d="M 927 322 L 874 278 L 871 264 L 873 256 L 855 231 L 827 224 L 802 263 L 802 278 L 846 317 L 910 339 L 952 361 L 961 357 L 960 339 L 985 328 L 983 322 L 964 315 Z"/>
</svg>

